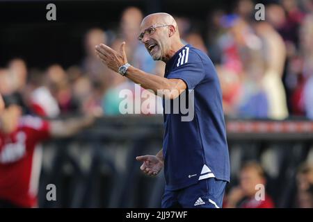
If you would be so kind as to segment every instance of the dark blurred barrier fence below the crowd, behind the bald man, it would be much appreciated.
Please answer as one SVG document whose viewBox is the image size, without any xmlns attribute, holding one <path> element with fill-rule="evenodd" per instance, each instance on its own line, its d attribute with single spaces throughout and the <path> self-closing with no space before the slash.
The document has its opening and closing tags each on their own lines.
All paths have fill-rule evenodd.
<svg viewBox="0 0 313 222">
<path fill-rule="evenodd" d="M 137 155 L 162 146 L 161 116 L 98 119 L 92 128 L 44 144 L 39 207 L 160 207 L 162 173 L 141 173 Z M 232 181 L 247 160 L 262 163 L 276 207 L 296 207 L 296 170 L 313 154 L 313 122 L 227 121 Z M 56 185 L 56 201 L 46 198 Z"/>
</svg>

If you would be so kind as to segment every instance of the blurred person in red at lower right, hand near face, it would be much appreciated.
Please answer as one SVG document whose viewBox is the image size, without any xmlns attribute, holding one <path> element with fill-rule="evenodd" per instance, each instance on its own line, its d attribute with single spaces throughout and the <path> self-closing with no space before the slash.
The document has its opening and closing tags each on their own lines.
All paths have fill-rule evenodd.
<svg viewBox="0 0 313 222">
<path fill-rule="evenodd" d="M 234 187 L 227 195 L 225 207 L 227 208 L 273 208 L 274 203 L 264 191 L 264 196 L 259 194 L 260 189 L 266 185 L 264 170 L 257 162 L 246 162 L 241 167 L 240 185 Z M 261 185 L 261 186 L 260 186 Z M 259 187 L 258 187 L 259 186 Z M 258 194 L 257 194 L 258 192 Z"/>
</svg>

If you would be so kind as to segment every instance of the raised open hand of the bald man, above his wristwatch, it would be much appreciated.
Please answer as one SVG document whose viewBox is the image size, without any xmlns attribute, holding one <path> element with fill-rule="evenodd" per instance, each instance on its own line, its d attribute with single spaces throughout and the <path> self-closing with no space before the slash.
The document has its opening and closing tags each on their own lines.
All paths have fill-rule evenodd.
<svg viewBox="0 0 313 222">
<path fill-rule="evenodd" d="M 127 63 L 125 42 L 122 42 L 119 52 L 111 49 L 111 47 L 105 44 L 98 44 L 95 46 L 95 52 L 104 65 L 113 71 L 118 72 L 118 68 Z"/>
</svg>

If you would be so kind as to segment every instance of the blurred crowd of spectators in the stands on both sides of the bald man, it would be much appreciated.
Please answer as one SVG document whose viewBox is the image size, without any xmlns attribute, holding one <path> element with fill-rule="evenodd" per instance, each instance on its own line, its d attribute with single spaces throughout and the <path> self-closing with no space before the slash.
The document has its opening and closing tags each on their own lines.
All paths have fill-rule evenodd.
<svg viewBox="0 0 313 222">
<path fill-rule="evenodd" d="M 231 13 L 209 12 L 204 30 L 188 17 L 175 17 L 184 42 L 205 51 L 216 65 L 228 117 L 313 119 L 313 2 L 277 2 L 266 5 L 265 21 L 256 21 L 255 3 L 239 0 Z M 118 31 L 88 30 L 85 58 L 67 69 L 53 64 L 40 70 L 14 58 L 0 69 L 0 93 L 20 94 L 29 112 L 46 117 L 120 114 L 120 90 L 134 91 L 134 83 L 107 69 L 97 59 L 95 45 L 119 49 L 125 41 L 131 65 L 162 76 L 165 64 L 152 60 L 137 40 L 143 16 L 129 7 L 122 12 Z M 155 96 L 148 99 L 161 103 Z"/>
</svg>

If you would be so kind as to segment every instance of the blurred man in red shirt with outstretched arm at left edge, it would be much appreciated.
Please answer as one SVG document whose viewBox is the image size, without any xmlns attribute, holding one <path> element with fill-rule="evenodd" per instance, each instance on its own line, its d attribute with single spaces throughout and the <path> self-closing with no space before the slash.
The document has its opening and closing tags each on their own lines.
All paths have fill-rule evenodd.
<svg viewBox="0 0 313 222">
<path fill-rule="evenodd" d="M 22 117 L 22 101 L 16 94 L 3 96 L 0 111 L 0 208 L 36 207 L 41 167 L 37 146 L 49 137 L 68 137 L 93 123 L 93 117 L 44 121 Z"/>
</svg>

